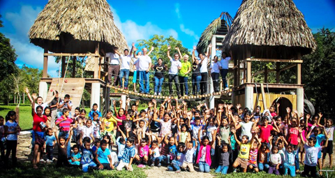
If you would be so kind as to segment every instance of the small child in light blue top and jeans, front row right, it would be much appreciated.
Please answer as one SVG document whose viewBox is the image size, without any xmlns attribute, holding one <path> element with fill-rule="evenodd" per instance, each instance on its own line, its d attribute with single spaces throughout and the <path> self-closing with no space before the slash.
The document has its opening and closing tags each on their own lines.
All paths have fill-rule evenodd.
<svg viewBox="0 0 335 178">
<path fill-rule="evenodd" d="M 288 170 L 290 170 L 290 176 L 295 177 L 295 156 L 297 154 L 297 147 L 293 144 L 288 144 L 285 149 L 284 175 L 288 175 Z"/>
</svg>

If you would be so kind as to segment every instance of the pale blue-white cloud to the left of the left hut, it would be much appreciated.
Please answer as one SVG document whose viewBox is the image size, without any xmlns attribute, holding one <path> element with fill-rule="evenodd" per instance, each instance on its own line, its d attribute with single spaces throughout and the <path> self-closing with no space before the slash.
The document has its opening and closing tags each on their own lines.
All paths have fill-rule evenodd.
<svg viewBox="0 0 335 178">
<path fill-rule="evenodd" d="M 7 38 L 10 38 L 10 43 L 15 48 L 17 54 L 17 63 L 22 66 L 26 64 L 30 67 L 43 68 L 43 49 L 29 42 L 29 29 L 34 24 L 34 21 L 42 8 L 32 6 L 21 6 L 18 13 L 6 13 L 5 18 L 13 25 L 13 33 L 5 33 Z M 6 27 L 5 27 L 6 28 Z M 59 64 L 54 61 L 53 57 L 48 60 L 48 73 L 52 77 L 57 77 Z"/>
</svg>

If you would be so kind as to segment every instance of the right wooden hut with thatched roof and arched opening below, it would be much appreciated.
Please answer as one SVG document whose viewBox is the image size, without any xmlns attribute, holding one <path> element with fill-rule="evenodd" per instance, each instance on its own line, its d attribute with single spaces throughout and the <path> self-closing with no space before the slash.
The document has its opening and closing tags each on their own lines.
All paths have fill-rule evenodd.
<svg viewBox="0 0 335 178">
<path fill-rule="evenodd" d="M 234 17 L 232 27 L 223 40 L 223 50 L 232 50 L 234 59 L 233 103 L 249 109 L 281 103 L 280 112 L 291 107 L 304 112 L 304 85 L 301 84 L 301 56 L 315 50 L 311 29 L 304 15 L 292 0 L 244 0 Z M 275 63 L 252 73 L 254 61 Z M 283 67 L 281 64 L 288 64 Z M 281 67 L 282 66 L 282 67 Z M 296 68 L 296 82 L 283 84 L 281 72 Z M 276 82 L 268 82 L 268 73 L 276 73 Z M 253 82 L 253 76 L 264 74 L 263 82 Z M 284 94 L 285 92 L 285 94 Z M 290 94 L 288 94 L 290 93 Z"/>
</svg>

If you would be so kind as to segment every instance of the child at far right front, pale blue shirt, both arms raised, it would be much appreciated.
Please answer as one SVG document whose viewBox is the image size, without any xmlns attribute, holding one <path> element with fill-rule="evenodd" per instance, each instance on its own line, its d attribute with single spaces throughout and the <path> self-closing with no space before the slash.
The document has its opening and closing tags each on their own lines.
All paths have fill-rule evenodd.
<svg viewBox="0 0 335 178">
<path fill-rule="evenodd" d="M 302 140 L 301 130 L 299 130 L 301 141 L 304 143 L 305 147 L 305 161 L 304 161 L 304 172 L 301 173 L 302 177 L 309 176 L 311 172 L 311 177 L 316 177 L 316 165 L 318 164 L 318 153 L 328 146 L 328 139 L 330 135 L 327 135 L 325 145 L 322 147 L 315 147 L 317 142 L 316 138 L 311 137 L 307 139 L 307 143 Z"/>
</svg>

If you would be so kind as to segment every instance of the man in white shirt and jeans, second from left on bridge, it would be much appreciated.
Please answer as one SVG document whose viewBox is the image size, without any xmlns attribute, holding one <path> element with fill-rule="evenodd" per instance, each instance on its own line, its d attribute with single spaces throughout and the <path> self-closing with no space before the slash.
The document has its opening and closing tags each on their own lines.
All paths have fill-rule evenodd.
<svg viewBox="0 0 335 178">
<path fill-rule="evenodd" d="M 121 70 L 119 75 L 119 81 L 120 81 L 120 88 L 124 86 L 124 89 L 128 89 L 128 77 L 129 77 L 129 70 L 131 69 L 131 53 L 133 52 L 133 47 L 131 47 L 131 52 L 129 52 L 128 49 L 124 50 L 124 54 L 120 54 L 117 50 L 115 50 L 115 53 L 117 53 L 121 59 Z M 122 80 L 124 79 L 124 85 Z"/>
</svg>

